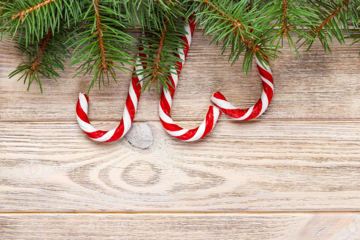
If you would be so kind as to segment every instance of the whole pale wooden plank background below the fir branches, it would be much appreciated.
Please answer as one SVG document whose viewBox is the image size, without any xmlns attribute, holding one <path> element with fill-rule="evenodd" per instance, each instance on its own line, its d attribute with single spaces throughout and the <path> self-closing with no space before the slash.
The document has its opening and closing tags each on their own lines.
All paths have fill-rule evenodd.
<svg viewBox="0 0 360 240">
<path fill-rule="evenodd" d="M 257 71 L 230 67 L 201 33 L 173 101 L 184 127 L 215 91 L 243 108 L 261 94 Z M 163 130 L 152 89 L 126 137 L 101 144 L 75 121 L 91 77 L 70 68 L 43 95 L 36 83 L 26 92 L 7 77 L 26 58 L 1 42 L 0 239 L 360 239 L 360 58 L 349 44 L 300 59 L 283 49 L 255 121 L 223 114 L 207 137 L 182 142 Z M 129 82 L 119 73 L 91 91 L 96 127 L 117 125 Z"/>
</svg>

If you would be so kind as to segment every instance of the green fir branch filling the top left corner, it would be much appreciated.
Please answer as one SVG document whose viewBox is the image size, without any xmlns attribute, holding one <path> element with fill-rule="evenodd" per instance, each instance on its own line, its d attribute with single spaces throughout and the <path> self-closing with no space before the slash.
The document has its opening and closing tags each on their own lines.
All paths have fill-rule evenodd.
<svg viewBox="0 0 360 240">
<path fill-rule="evenodd" d="M 0 15 L 1 38 L 10 35 L 13 40 L 15 35 L 19 35 L 18 39 L 25 39 L 27 44 L 34 44 L 46 36 L 49 28 L 53 32 L 61 27 L 69 28 L 70 20 L 77 20 L 81 12 L 81 3 L 82 1 L 78 0 L 1 1 L 1 9 L 4 12 Z"/>
</svg>

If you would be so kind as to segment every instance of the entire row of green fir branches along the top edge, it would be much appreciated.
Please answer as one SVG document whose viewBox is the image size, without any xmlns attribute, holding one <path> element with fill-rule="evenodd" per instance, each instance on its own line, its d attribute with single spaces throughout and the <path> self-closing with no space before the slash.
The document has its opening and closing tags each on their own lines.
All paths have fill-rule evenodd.
<svg viewBox="0 0 360 240">
<path fill-rule="evenodd" d="M 360 42 L 359 0 L 0 0 L 1 40 L 17 42 L 29 61 L 9 76 L 31 83 L 59 78 L 70 59 L 77 74 L 91 74 L 89 90 L 116 69 L 132 72 L 138 47 L 148 58 L 143 89 L 160 83 L 176 67 L 174 56 L 182 46 L 184 19 L 195 12 L 197 27 L 229 51 L 231 64 L 241 58 L 242 70 L 252 68 L 253 56 L 274 60 L 287 41 L 291 51 L 309 50 L 316 42 L 330 51 L 334 40 Z M 135 28 L 146 34 L 135 39 Z M 49 36 L 50 33 L 50 37 Z M 48 37 L 48 38 L 47 38 Z M 46 42 L 45 45 L 44 41 Z M 330 51 L 331 52 L 331 51 Z M 265 61 L 266 62 L 266 61 Z M 35 66 L 36 65 L 36 66 Z"/>
</svg>

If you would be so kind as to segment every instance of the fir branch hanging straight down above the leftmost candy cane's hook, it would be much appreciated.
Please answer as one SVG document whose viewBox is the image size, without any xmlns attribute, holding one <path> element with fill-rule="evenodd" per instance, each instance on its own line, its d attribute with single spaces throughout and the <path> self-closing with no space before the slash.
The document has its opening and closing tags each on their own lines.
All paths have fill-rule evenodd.
<svg viewBox="0 0 360 240">
<path fill-rule="evenodd" d="M 131 56 L 131 51 L 135 50 L 132 47 L 135 39 L 125 30 L 130 24 L 124 20 L 126 15 L 122 12 L 120 2 L 83 0 L 82 4 L 86 11 L 79 16 L 78 21 L 73 22 L 69 39 L 73 40 L 69 47 L 75 47 L 70 66 L 81 63 L 75 76 L 79 73 L 93 73 L 90 91 L 97 80 L 100 89 L 104 77 L 109 83 L 109 75 L 116 82 L 114 69 L 130 71 L 124 64 L 134 65 L 132 62 L 135 58 Z"/>
</svg>

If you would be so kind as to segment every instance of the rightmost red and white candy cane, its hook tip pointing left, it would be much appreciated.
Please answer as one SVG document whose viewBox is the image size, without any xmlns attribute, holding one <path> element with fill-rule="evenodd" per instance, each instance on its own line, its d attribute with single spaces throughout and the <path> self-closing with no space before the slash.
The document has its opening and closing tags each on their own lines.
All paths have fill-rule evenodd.
<svg viewBox="0 0 360 240">
<path fill-rule="evenodd" d="M 251 120 L 257 118 L 262 113 L 265 112 L 266 108 L 269 106 L 271 99 L 273 98 L 274 93 L 274 83 L 273 83 L 273 74 L 269 65 L 260 62 L 256 56 L 256 65 L 259 70 L 260 77 L 262 80 L 262 94 L 261 98 L 250 108 L 248 109 L 238 109 L 234 107 L 231 103 L 226 100 L 224 95 L 220 92 L 215 92 L 211 101 L 221 109 L 226 115 L 234 118 L 235 120 Z"/>
</svg>

